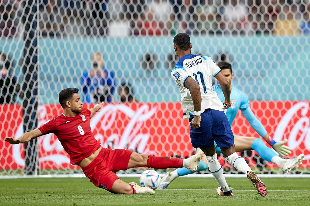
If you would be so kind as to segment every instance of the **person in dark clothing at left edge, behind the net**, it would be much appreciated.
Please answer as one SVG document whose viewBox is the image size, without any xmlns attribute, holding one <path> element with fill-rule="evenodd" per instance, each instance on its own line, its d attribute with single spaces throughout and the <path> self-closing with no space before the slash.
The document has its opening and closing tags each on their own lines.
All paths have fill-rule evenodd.
<svg viewBox="0 0 310 206">
<path fill-rule="evenodd" d="M 11 74 L 11 67 L 11 59 L 0 53 L 0 104 L 15 103 L 17 94 L 20 90 L 20 85 L 17 83 L 17 78 Z"/>
</svg>

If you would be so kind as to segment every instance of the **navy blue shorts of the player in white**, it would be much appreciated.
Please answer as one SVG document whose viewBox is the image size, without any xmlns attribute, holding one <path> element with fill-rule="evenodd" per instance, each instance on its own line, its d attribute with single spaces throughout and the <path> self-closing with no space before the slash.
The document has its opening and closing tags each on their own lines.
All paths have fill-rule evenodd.
<svg viewBox="0 0 310 206">
<path fill-rule="evenodd" d="M 189 122 L 194 118 L 191 115 Z M 224 111 L 206 109 L 201 113 L 200 127 L 194 129 L 189 125 L 193 147 L 210 148 L 214 141 L 219 147 L 230 147 L 234 143 L 232 130 Z"/>
</svg>

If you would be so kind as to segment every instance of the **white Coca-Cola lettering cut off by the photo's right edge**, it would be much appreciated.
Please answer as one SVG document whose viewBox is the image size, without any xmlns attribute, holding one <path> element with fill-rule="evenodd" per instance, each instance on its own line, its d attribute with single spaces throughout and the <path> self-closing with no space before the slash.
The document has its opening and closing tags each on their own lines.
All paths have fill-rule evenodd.
<svg viewBox="0 0 310 206">
<path fill-rule="evenodd" d="M 296 116 L 300 110 L 301 117 Z M 281 121 L 277 125 L 276 131 L 274 132 L 273 139 L 275 141 L 281 141 L 284 136 L 284 132 L 291 127 L 289 137 L 287 138 L 287 145 L 293 150 L 299 148 L 301 143 L 304 143 L 306 149 L 310 149 L 310 120 L 307 116 L 309 112 L 309 103 L 299 102 L 294 104 L 282 117 Z M 299 118 L 294 125 L 290 125 L 293 118 Z M 301 133 L 301 134 L 300 134 Z M 300 135 L 299 135 L 300 134 Z M 305 159 L 310 159 L 310 155 L 306 155 Z"/>
</svg>

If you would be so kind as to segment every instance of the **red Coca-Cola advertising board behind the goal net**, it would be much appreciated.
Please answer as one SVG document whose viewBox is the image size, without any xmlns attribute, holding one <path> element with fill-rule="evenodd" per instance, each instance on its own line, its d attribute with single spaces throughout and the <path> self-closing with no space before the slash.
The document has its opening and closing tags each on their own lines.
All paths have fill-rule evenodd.
<svg viewBox="0 0 310 206">
<path fill-rule="evenodd" d="M 276 141 L 288 139 L 293 149 L 290 157 L 305 154 L 310 166 L 310 102 L 308 101 L 254 101 L 250 103 L 255 116 Z M 91 108 L 92 105 L 86 105 Z M 40 105 L 39 125 L 53 115 L 60 114 L 60 105 Z M 20 137 L 23 134 L 20 105 L 1 105 L 1 137 Z M 139 153 L 166 156 L 178 153 L 189 156 L 193 148 L 189 138 L 189 122 L 182 118 L 180 103 L 105 104 L 90 120 L 95 138 L 104 147 L 128 148 Z M 236 135 L 259 137 L 238 112 L 232 125 Z M 74 168 L 69 156 L 53 134 L 39 137 L 39 167 Z M 24 168 L 23 144 L 10 145 L 0 141 L 0 169 Z"/>
</svg>

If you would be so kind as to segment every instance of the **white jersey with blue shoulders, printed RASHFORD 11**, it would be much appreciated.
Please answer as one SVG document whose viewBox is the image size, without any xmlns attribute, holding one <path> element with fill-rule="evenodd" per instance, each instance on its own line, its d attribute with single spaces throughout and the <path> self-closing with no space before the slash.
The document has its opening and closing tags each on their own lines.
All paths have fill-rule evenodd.
<svg viewBox="0 0 310 206">
<path fill-rule="evenodd" d="M 171 78 L 181 93 L 184 119 L 194 114 L 192 96 L 184 87 L 184 81 L 187 78 L 193 78 L 200 86 L 201 112 L 208 108 L 223 111 L 223 103 L 212 88 L 212 76 L 215 77 L 220 71 L 221 69 L 211 57 L 206 56 L 187 54 L 176 63 L 175 68 L 172 69 Z"/>
</svg>

